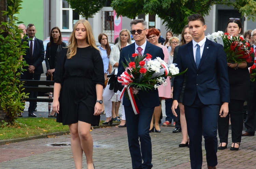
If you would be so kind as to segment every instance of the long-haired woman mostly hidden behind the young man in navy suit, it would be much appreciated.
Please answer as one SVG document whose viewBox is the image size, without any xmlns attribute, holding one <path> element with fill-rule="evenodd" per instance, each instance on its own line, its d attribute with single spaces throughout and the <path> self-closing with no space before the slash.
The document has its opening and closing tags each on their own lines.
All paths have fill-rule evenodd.
<svg viewBox="0 0 256 169">
<path fill-rule="evenodd" d="M 187 44 L 188 42 L 190 42 L 193 38 L 192 35 L 190 35 L 189 33 L 189 29 L 188 29 L 188 25 L 185 25 L 182 33 L 181 33 L 181 43 L 179 46 L 176 46 L 173 52 L 173 63 L 176 62 L 176 56 L 177 56 L 177 52 L 179 51 L 180 46 Z M 178 122 L 176 122 L 176 126 L 175 129 L 172 131 L 173 133 L 177 133 L 179 130 L 181 130 L 182 132 L 182 140 L 181 140 L 181 144 L 179 144 L 179 147 L 189 147 L 189 141 L 188 141 L 188 133 L 187 133 L 187 122 L 186 122 L 186 118 L 185 118 L 185 110 L 184 110 L 184 105 L 182 104 L 183 101 L 183 94 L 184 94 L 184 89 L 185 89 L 185 85 L 186 85 L 186 75 L 184 75 L 184 82 L 183 82 L 183 88 L 182 88 L 182 92 L 180 95 L 180 99 L 179 99 L 179 108 L 180 108 L 180 126 L 181 128 L 177 128 Z"/>
</svg>

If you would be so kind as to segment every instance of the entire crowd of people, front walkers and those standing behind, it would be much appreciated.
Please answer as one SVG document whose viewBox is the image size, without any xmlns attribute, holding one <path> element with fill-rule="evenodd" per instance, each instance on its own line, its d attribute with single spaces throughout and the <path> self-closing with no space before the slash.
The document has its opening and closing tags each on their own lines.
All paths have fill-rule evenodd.
<svg viewBox="0 0 256 169">
<path fill-rule="evenodd" d="M 102 113 L 106 115 L 103 124 L 120 121 L 118 127 L 127 127 L 132 168 L 152 168 L 150 133 L 161 132 L 162 100 L 165 100 L 166 112 L 163 126 L 175 125 L 172 132 L 182 132 L 178 146 L 189 147 L 191 168 L 202 167 L 202 136 L 208 168 L 216 168 L 217 149 L 224 150 L 228 145 L 230 122 L 230 150 L 239 150 L 242 136 L 255 135 L 256 82 L 250 81 L 248 71 L 254 64 L 254 53 L 250 61 L 228 63 L 223 46 L 204 36 L 207 26 L 199 14 L 188 17 L 181 39 L 171 31 L 167 31 L 166 39 L 162 38 L 160 30 L 155 27 L 148 29 L 143 19 L 131 21 L 130 26 L 131 31 L 120 31 L 113 46 L 110 46 L 106 34 L 100 34 L 98 47 L 87 20 L 75 23 L 68 46 L 62 42 L 60 29 L 53 27 L 45 54 L 47 72 L 43 72 L 43 42 L 35 38 L 33 24 L 27 27 L 20 24 L 18 27 L 23 30 L 23 35 L 27 34 L 22 41 L 28 42 L 26 55 L 21 56 L 28 67 L 21 79 L 40 80 L 41 74 L 46 73 L 47 80 L 54 80 L 54 93 L 51 93 L 53 110 L 48 117 L 57 116 L 57 122 L 69 125 L 76 168 L 82 168 L 83 152 L 87 168 L 94 168 L 90 127 L 99 125 Z M 243 34 L 239 18 L 230 18 L 226 33 L 233 36 Z M 256 29 L 246 31 L 243 36 L 255 52 Z M 141 55 L 147 52 L 152 59 L 160 57 L 168 65 L 176 63 L 180 72 L 188 69 L 184 75 L 167 77 L 165 86 L 140 91 L 134 98 L 140 111 L 137 115 L 125 94 L 120 98 L 122 87 L 116 79 L 125 70 L 123 63 L 133 59 L 134 52 Z M 29 97 L 37 97 L 37 93 L 30 92 Z M 247 117 L 244 125 L 247 130 L 242 133 L 245 101 Z M 36 117 L 35 108 L 36 102 L 30 102 L 30 117 Z"/>
</svg>

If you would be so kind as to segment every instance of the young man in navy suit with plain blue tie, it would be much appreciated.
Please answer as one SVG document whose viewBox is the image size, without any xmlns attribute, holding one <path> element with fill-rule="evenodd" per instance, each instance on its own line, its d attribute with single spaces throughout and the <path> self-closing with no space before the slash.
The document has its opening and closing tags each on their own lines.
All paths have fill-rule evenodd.
<svg viewBox="0 0 256 169">
<path fill-rule="evenodd" d="M 218 116 L 226 117 L 229 102 L 227 57 L 221 44 L 205 38 L 206 25 L 199 14 L 188 17 L 193 40 L 180 47 L 176 63 L 181 71 L 187 69 L 183 96 L 189 136 L 192 169 L 202 168 L 202 135 L 205 141 L 207 166 L 217 165 Z M 172 112 L 178 106 L 184 76 L 174 78 Z"/>
</svg>

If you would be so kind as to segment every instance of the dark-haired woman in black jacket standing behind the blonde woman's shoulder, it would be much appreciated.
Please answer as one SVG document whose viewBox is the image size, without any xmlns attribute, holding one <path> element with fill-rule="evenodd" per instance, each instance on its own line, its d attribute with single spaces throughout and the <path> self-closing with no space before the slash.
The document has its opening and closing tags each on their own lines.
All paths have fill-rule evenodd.
<svg viewBox="0 0 256 169">
<path fill-rule="evenodd" d="M 67 44 L 62 42 L 60 29 L 56 26 L 53 27 L 50 34 L 50 41 L 46 45 L 45 53 L 45 65 L 47 69 L 46 80 L 52 80 L 55 72 L 55 67 L 62 49 L 65 48 Z M 49 98 L 53 96 L 52 92 L 49 92 Z M 51 114 L 51 103 L 48 103 L 49 114 L 48 117 L 56 117 L 56 113 L 52 110 Z"/>
</svg>

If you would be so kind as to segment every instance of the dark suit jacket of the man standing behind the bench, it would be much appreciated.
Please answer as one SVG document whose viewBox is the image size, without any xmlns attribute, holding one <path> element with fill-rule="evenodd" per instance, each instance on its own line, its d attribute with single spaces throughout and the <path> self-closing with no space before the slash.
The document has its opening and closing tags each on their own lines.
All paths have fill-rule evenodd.
<svg viewBox="0 0 256 169">
<path fill-rule="evenodd" d="M 28 37 L 25 39 L 22 39 L 22 42 L 27 41 Z M 29 43 L 29 42 L 28 42 Z M 29 44 L 27 44 L 29 46 Z M 35 67 L 34 74 L 42 74 L 44 73 L 42 62 L 44 60 L 44 44 L 43 41 L 40 39 L 35 38 L 34 45 L 33 45 L 33 56 L 32 56 L 32 62 L 31 62 L 31 54 L 30 49 L 26 48 L 26 55 L 23 55 L 23 58 L 26 60 L 28 65 L 33 65 Z M 25 67 L 24 69 L 27 69 L 28 67 Z"/>
</svg>

